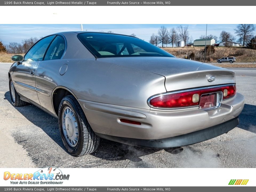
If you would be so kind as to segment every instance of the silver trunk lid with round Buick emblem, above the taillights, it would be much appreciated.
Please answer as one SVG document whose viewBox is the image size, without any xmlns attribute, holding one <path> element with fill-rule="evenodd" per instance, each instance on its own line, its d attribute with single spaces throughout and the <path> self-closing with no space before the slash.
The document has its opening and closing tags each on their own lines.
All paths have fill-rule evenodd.
<svg viewBox="0 0 256 192">
<path fill-rule="evenodd" d="M 97 60 L 149 71 L 166 78 L 166 91 L 235 82 L 235 73 L 225 68 L 173 57 L 117 57 Z M 208 78 L 214 77 L 214 81 Z"/>
</svg>

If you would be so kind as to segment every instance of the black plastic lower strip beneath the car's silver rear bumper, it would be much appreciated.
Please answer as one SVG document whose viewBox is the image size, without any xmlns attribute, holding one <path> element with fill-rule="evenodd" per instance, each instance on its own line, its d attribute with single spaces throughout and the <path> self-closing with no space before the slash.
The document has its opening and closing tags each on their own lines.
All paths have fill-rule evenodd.
<svg viewBox="0 0 256 192">
<path fill-rule="evenodd" d="M 125 138 L 125 137 L 115 137 L 115 136 L 105 135 L 100 133 L 96 133 L 96 134 L 101 138 L 108 139 L 111 141 L 116 141 L 119 143 L 125 143 L 128 145 L 147 147 L 152 149 L 168 149 L 168 148 L 192 145 L 195 143 L 199 143 L 199 142 L 217 137 L 219 135 L 222 135 L 234 129 L 238 125 L 238 123 L 239 123 L 239 118 L 236 117 L 225 123 L 221 123 L 219 125 L 215 125 L 206 129 L 194 131 L 192 133 L 187 133 L 184 135 L 178 135 L 175 137 L 164 138 L 164 139 L 133 139 L 133 138 Z"/>
</svg>

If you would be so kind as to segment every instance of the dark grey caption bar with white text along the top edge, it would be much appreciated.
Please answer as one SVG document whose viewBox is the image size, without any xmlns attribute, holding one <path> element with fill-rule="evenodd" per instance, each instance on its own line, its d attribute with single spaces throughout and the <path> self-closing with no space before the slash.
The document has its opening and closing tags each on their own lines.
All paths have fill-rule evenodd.
<svg viewBox="0 0 256 192">
<path fill-rule="evenodd" d="M 33 1 L 33 0 L 11 0 L 11 1 L 1 1 L 0 6 L 255 6 L 256 1 L 243 0 L 243 1 L 205 1 L 205 0 L 183 0 L 183 1 L 154 1 L 154 0 L 131 0 L 131 1 L 107 1 L 107 0 L 57 0 L 57 1 Z M 193 8 L 194 9 L 194 8 Z M 194 11 L 206 12 L 209 10 L 200 10 L 200 7 L 196 8 Z M 185 10 L 184 10 L 185 11 Z M 193 11 L 193 10 L 189 10 Z M 221 14 L 223 11 L 229 11 L 230 13 L 242 13 L 242 7 L 238 7 L 236 10 L 228 9 L 227 7 L 219 7 L 214 13 Z"/>
</svg>

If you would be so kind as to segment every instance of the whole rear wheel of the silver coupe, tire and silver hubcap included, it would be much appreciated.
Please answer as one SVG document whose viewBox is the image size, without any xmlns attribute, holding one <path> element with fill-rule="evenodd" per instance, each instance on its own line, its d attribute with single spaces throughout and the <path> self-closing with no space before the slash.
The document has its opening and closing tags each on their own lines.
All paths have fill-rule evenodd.
<svg viewBox="0 0 256 192">
<path fill-rule="evenodd" d="M 62 141 L 71 155 L 93 153 L 100 138 L 91 129 L 85 114 L 73 95 L 61 100 L 58 111 L 59 131 Z"/>
</svg>

